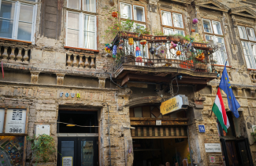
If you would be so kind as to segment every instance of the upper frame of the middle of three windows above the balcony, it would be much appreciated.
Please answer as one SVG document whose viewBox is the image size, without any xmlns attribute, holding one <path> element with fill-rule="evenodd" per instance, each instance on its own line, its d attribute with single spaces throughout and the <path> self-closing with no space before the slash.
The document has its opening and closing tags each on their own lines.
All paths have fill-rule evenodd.
<svg viewBox="0 0 256 166">
<path fill-rule="evenodd" d="M 160 10 L 160 13 L 162 13 L 162 12 L 171 13 L 171 18 L 172 18 L 172 26 L 165 25 L 165 24 L 163 24 L 163 22 L 162 22 L 162 15 L 160 14 L 161 31 L 162 31 L 163 33 L 165 33 L 165 32 L 164 32 L 164 28 L 165 28 L 165 29 L 173 29 L 173 34 L 174 34 L 174 31 L 184 31 L 184 36 L 186 35 L 185 25 L 184 25 L 184 23 L 185 23 L 185 21 L 184 21 L 184 13 L 173 12 L 173 11 L 171 11 L 171 10 L 166 10 L 166 9 L 159 9 L 159 10 Z M 174 23 L 173 23 L 173 13 L 174 13 L 174 14 L 180 14 L 180 15 L 182 16 L 183 28 L 181 28 L 181 27 L 174 27 Z"/>
</svg>

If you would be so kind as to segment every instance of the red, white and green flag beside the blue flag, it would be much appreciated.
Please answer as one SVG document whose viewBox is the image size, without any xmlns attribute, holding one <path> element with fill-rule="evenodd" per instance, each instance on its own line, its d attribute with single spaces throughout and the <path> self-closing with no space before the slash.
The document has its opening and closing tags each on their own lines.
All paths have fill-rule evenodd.
<svg viewBox="0 0 256 166">
<path fill-rule="evenodd" d="M 219 120 L 221 127 L 224 129 L 225 132 L 227 132 L 227 129 L 229 128 L 230 124 L 228 121 L 226 110 L 224 108 L 220 88 L 217 89 L 217 95 L 213 103 L 213 113 Z"/>
</svg>

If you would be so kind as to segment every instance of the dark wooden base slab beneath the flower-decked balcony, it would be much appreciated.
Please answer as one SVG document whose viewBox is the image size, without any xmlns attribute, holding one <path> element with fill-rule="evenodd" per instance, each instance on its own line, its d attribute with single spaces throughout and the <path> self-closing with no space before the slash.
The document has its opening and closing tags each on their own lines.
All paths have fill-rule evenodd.
<svg viewBox="0 0 256 166">
<path fill-rule="evenodd" d="M 198 72 L 177 67 L 144 67 L 130 64 L 122 64 L 114 73 L 114 78 L 121 80 L 121 85 L 128 81 L 170 82 L 176 75 L 183 78 L 179 84 L 206 85 L 208 81 L 217 78 L 215 73 Z M 173 82 L 176 84 L 176 82 Z M 200 88 L 198 88 L 200 89 Z"/>
</svg>

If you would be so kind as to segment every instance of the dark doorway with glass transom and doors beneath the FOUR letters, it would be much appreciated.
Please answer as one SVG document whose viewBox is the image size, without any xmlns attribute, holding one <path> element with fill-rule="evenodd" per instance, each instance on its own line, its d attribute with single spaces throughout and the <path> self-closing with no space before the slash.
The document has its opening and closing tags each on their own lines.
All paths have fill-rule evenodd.
<svg viewBox="0 0 256 166">
<path fill-rule="evenodd" d="M 59 110 L 58 166 L 98 165 L 97 113 L 97 110 Z"/>
</svg>

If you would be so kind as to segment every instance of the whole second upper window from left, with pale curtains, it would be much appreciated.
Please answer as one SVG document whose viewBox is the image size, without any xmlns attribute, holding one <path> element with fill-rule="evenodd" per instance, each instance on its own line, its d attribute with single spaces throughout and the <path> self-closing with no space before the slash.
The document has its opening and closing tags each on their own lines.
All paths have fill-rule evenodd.
<svg viewBox="0 0 256 166">
<path fill-rule="evenodd" d="M 83 5 L 81 5 L 83 4 Z M 83 9 L 87 12 L 95 12 L 94 0 L 69 0 L 68 7 Z M 67 11 L 66 45 L 84 49 L 97 49 L 96 16 Z M 82 13 L 83 12 L 83 13 Z"/>
</svg>

